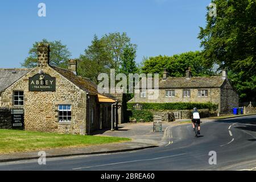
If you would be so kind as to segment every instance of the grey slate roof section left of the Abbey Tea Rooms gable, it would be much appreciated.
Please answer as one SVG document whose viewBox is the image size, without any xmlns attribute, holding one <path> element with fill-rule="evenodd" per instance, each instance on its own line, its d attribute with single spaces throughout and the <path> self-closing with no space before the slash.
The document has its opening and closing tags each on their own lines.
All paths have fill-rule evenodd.
<svg viewBox="0 0 256 182">
<path fill-rule="evenodd" d="M 26 75 L 31 69 L 0 69 L 0 92 L 13 85 L 15 81 Z"/>
</svg>

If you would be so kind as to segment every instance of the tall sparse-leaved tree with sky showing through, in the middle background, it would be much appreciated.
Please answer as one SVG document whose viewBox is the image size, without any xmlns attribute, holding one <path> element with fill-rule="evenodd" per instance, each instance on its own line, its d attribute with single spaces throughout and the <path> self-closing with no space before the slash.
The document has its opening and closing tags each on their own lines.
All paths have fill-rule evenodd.
<svg viewBox="0 0 256 182">
<path fill-rule="evenodd" d="M 119 72 L 124 49 L 127 46 L 136 49 L 136 45 L 131 44 L 131 39 L 125 32 L 122 34 L 119 32 L 106 34 L 102 37 L 102 40 L 106 43 L 106 51 L 108 51 L 109 55 L 112 57 L 112 68 L 115 69 L 115 72 Z"/>
</svg>

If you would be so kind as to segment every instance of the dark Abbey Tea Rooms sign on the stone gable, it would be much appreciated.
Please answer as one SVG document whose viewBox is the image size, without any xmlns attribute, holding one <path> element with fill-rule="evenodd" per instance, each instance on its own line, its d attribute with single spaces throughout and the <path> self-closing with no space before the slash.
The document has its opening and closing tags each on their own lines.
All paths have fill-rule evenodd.
<svg viewBox="0 0 256 182">
<path fill-rule="evenodd" d="M 37 74 L 29 78 L 29 91 L 30 92 L 55 92 L 56 91 L 56 78 L 47 74 Z"/>
</svg>

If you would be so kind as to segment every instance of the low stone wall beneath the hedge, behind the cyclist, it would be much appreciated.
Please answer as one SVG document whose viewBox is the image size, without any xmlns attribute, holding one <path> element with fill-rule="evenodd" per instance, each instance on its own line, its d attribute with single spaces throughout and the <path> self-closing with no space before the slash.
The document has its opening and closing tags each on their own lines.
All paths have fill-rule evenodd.
<svg viewBox="0 0 256 182">
<path fill-rule="evenodd" d="M 170 115 L 171 118 L 174 117 L 175 112 L 179 112 L 179 119 L 191 119 L 192 117 L 192 110 L 150 110 L 152 114 L 159 115 L 162 117 L 162 121 L 170 122 Z M 200 109 L 199 110 L 200 118 L 208 118 L 217 116 L 217 111 L 210 111 L 209 109 Z M 172 119 L 175 121 L 175 118 Z"/>
</svg>

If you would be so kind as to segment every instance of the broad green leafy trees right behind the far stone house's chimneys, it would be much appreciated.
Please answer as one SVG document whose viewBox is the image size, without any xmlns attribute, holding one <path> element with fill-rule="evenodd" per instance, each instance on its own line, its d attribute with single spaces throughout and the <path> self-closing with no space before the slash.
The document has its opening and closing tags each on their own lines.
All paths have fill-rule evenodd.
<svg viewBox="0 0 256 182">
<path fill-rule="evenodd" d="M 159 73 L 163 75 L 164 68 L 170 76 L 185 76 L 185 71 L 191 67 L 193 76 L 212 76 L 212 69 L 206 68 L 203 64 L 203 56 L 199 51 L 185 52 L 173 56 L 156 56 L 143 60 L 141 70 L 143 73 Z"/>
</svg>

